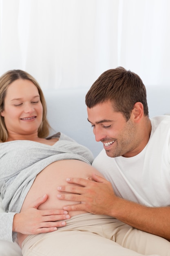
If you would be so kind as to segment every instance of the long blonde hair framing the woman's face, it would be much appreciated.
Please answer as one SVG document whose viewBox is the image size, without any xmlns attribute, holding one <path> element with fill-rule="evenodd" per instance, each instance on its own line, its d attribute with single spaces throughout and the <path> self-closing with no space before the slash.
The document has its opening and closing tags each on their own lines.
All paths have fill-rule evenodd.
<svg viewBox="0 0 170 256">
<path fill-rule="evenodd" d="M 38 128 L 38 137 L 45 138 L 49 135 L 49 129 L 51 128 L 49 122 L 46 119 L 47 108 L 44 94 L 40 88 L 38 82 L 25 71 L 22 70 L 9 70 L 0 77 L 0 113 L 4 110 L 4 99 L 7 93 L 8 86 L 17 79 L 29 80 L 37 88 L 40 94 L 40 101 L 43 107 L 42 123 Z M 0 115 L 0 141 L 5 142 L 8 139 L 8 132 L 5 126 L 4 117 Z"/>
</svg>

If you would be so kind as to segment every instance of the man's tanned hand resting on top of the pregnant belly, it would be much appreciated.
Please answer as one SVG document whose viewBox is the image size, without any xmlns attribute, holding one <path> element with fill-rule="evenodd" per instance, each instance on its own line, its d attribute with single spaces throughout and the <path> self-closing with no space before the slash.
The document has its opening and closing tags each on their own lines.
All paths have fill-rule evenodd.
<svg viewBox="0 0 170 256">
<path fill-rule="evenodd" d="M 106 179 L 93 174 L 93 180 L 82 178 L 69 178 L 68 183 L 80 186 L 60 186 L 58 191 L 69 194 L 58 194 L 60 200 L 79 201 L 81 204 L 66 205 L 67 211 L 88 211 L 94 214 L 106 214 L 112 216 L 114 201 L 117 199 L 112 185 Z"/>
</svg>

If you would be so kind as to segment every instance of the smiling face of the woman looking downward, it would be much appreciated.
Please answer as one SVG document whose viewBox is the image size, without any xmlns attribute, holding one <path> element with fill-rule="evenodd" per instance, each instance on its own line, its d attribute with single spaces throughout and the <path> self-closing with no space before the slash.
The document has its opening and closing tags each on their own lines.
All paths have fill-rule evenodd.
<svg viewBox="0 0 170 256">
<path fill-rule="evenodd" d="M 1 112 L 9 138 L 38 134 L 42 114 L 40 94 L 31 81 L 18 79 L 9 85 Z"/>
</svg>

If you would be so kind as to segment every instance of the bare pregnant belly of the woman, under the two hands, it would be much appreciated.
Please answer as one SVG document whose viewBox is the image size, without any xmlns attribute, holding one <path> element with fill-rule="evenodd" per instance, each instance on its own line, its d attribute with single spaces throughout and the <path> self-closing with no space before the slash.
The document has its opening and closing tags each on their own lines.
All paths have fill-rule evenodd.
<svg viewBox="0 0 170 256">
<path fill-rule="evenodd" d="M 57 194 L 59 193 L 57 186 L 69 186 L 70 184 L 66 182 L 66 178 L 81 177 L 86 179 L 91 177 L 92 173 L 102 176 L 94 167 L 79 160 L 68 159 L 53 162 L 36 176 L 31 189 L 26 195 L 21 211 L 27 209 L 32 202 L 35 202 L 37 198 L 42 197 L 44 194 L 48 195 L 48 199 L 40 205 L 38 208 L 40 210 L 63 209 L 64 205 L 80 203 L 57 199 Z M 70 216 L 75 216 L 85 212 L 86 211 L 70 211 L 68 213 Z M 18 234 L 20 244 L 24 238 L 26 238 L 25 235 Z"/>
</svg>

